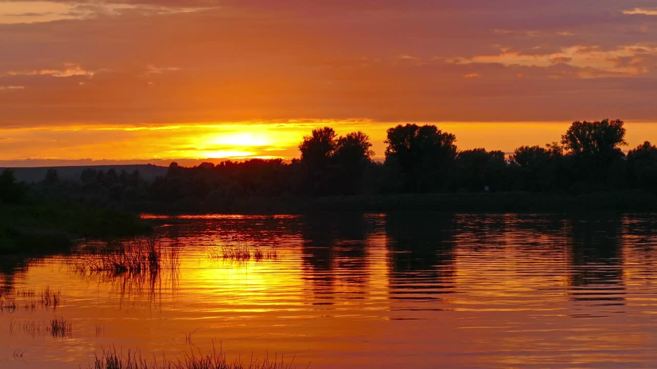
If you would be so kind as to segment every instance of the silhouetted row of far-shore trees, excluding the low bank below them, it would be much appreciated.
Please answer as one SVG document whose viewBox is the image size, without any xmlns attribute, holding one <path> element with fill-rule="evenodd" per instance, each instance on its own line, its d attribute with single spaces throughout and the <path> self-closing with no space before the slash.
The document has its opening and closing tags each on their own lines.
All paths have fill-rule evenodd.
<svg viewBox="0 0 657 369">
<path fill-rule="evenodd" d="M 331 127 L 321 127 L 304 137 L 300 158 L 291 162 L 252 159 L 194 167 L 174 162 L 152 182 L 139 172 L 87 169 L 79 182 L 70 183 L 59 181 L 53 169 L 33 189 L 92 203 L 204 202 L 216 207 L 246 197 L 657 189 L 657 147 L 646 141 L 625 154 L 625 134 L 618 119 L 575 121 L 559 142 L 520 146 L 507 155 L 485 148 L 459 150 L 455 135 L 436 125 L 405 124 L 388 129 L 385 160 L 376 162 L 365 133 L 338 136 Z"/>
</svg>

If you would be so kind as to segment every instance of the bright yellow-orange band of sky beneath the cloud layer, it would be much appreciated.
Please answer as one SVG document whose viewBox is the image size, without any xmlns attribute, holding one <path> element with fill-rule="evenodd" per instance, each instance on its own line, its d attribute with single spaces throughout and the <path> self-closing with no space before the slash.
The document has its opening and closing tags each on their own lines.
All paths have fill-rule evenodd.
<svg viewBox="0 0 657 369">
<path fill-rule="evenodd" d="M 297 146 L 313 127 L 330 125 L 338 134 L 361 130 L 373 142 L 375 158 L 383 158 L 386 129 L 395 123 L 353 121 L 279 121 L 202 123 L 186 125 L 90 125 L 0 129 L 0 163 L 25 165 L 75 164 L 78 159 L 110 159 L 129 163 L 164 165 L 171 159 L 206 158 L 297 158 Z M 422 122 L 419 122 L 422 124 Z M 485 147 L 512 152 L 522 145 L 559 141 L 569 122 L 442 122 L 440 129 L 457 135 L 459 148 Z M 628 146 L 657 142 L 657 124 L 627 122 Z M 38 150 L 35 150 L 38 148 Z M 46 154 L 47 153 L 47 154 Z M 24 158 L 41 159 L 39 163 Z M 73 162 L 69 162 L 69 161 Z M 218 162 L 219 160 L 210 160 Z M 192 161 L 193 162 L 193 161 Z M 80 164 L 89 164 L 80 161 Z"/>
</svg>

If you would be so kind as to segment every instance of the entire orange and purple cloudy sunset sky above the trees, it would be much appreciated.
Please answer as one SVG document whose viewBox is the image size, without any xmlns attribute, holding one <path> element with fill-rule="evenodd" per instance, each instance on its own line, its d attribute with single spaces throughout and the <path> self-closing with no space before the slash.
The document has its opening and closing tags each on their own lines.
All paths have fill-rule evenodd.
<svg viewBox="0 0 657 369">
<path fill-rule="evenodd" d="M 0 1 L 0 166 L 293 158 L 322 125 L 380 158 L 406 122 L 510 152 L 618 118 L 627 149 L 656 77 L 654 0 Z"/>
</svg>

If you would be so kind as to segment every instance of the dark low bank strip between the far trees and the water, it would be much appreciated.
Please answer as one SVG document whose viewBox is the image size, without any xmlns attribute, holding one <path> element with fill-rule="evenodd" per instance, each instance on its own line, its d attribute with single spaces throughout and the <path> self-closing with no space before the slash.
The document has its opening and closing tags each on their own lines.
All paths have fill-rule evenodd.
<svg viewBox="0 0 657 369">
<path fill-rule="evenodd" d="M 148 202 L 141 213 L 153 214 L 307 214 L 318 212 L 386 213 L 646 213 L 657 211 L 657 194 L 641 191 L 594 192 L 581 195 L 536 192 L 394 194 L 327 197 L 225 198 L 221 204 L 202 200 Z"/>
</svg>

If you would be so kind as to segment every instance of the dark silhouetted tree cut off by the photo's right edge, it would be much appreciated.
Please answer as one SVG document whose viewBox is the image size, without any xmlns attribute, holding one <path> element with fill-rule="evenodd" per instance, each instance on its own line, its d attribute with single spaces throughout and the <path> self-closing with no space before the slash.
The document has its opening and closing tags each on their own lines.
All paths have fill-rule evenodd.
<svg viewBox="0 0 657 369">
<path fill-rule="evenodd" d="M 646 141 L 627 152 L 627 178 L 635 188 L 657 190 L 657 146 Z"/>
</svg>

